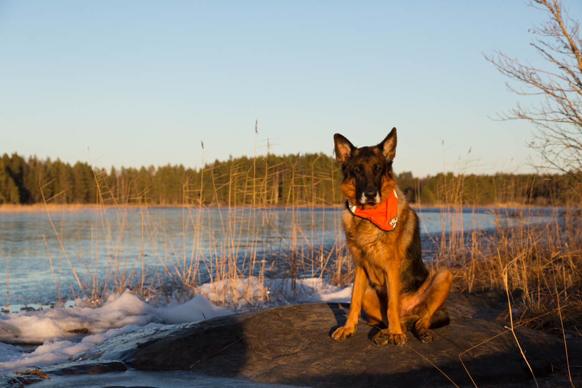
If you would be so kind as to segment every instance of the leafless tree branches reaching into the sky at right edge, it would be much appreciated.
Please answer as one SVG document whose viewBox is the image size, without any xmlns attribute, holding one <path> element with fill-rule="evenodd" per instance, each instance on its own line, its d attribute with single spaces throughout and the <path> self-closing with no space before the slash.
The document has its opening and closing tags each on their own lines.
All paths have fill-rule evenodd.
<svg viewBox="0 0 582 388">
<path fill-rule="evenodd" d="M 548 69 L 531 66 L 496 52 L 485 55 L 514 84 L 506 87 L 524 97 L 544 98 L 531 106 L 517 106 L 498 114 L 499 120 L 527 120 L 534 124 L 529 147 L 540 154 L 543 167 L 558 170 L 582 182 L 582 40 L 580 23 L 570 17 L 559 0 L 530 0 L 548 19 L 531 31 L 531 42 Z"/>
</svg>

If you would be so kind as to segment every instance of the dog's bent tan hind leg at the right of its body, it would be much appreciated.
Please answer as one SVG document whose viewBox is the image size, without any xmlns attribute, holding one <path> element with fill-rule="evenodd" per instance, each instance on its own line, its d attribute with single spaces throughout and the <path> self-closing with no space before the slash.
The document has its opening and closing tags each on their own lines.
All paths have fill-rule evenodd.
<svg viewBox="0 0 582 388">
<path fill-rule="evenodd" d="M 449 295 L 452 280 L 453 276 L 450 271 L 441 269 L 432 276 L 430 285 L 423 293 L 422 301 L 417 308 L 420 318 L 414 323 L 413 328 L 414 335 L 423 342 L 431 342 L 433 339 L 432 330 L 429 329 L 431 318 Z"/>
</svg>

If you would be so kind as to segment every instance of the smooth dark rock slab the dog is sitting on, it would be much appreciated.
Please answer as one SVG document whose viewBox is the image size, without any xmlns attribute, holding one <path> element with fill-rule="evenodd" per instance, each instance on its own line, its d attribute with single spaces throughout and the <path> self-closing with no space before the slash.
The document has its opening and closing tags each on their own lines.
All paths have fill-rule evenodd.
<svg viewBox="0 0 582 388">
<path fill-rule="evenodd" d="M 378 332 L 361 321 L 353 337 L 334 341 L 349 304 L 317 303 L 245 312 L 168 330 L 132 333 L 95 351 L 137 369 L 184 369 L 211 376 L 313 387 L 528 385 L 529 371 L 513 334 L 496 321 L 502 301 L 451 294 L 450 325 L 434 343 L 410 332 L 404 347 L 377 346 Z M 565 366 L 564 344 L 548 334 L 515 329 L 540 377 Z M 580 341 L 569 343 L 570 365 L 582 362 Z M 440 369 L 440 371 L 439 371 Z"/>
</svg>

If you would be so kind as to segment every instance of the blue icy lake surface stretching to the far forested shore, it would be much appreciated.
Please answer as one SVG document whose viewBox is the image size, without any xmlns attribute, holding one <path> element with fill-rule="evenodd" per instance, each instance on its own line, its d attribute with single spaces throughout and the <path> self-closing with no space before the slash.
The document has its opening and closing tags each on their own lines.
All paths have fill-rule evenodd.
<svg viewBox="0 0 582 388">
<path fill-rule="evenodd" d="M 415 209 L 425 258 L 434 252 L 430 236 L 489 230 L 496 223 L 545 222 L 559 210 Z M 10 304 L 18 305 L 55 301 L 58 285 L 63 298 L 79 283 L 111 286 L 120 273 L 133 273 L 127 282 L 152 283 L 195 268 L 196 282 L 203 284 L 211 280 L 209 269 L 218 258 L 236 262 L 245 274 L 286 277 L 289 258 L 296 257 L 303 263 L 295 268 L 299 277 L 319 276 L 320 259 L 343 252 L 341 211 L 81 208 L 51 211 L 52 225 L 45 212 L 0 212 L 0 305 L 6 304 L 7 262 Z"/>
</svg>

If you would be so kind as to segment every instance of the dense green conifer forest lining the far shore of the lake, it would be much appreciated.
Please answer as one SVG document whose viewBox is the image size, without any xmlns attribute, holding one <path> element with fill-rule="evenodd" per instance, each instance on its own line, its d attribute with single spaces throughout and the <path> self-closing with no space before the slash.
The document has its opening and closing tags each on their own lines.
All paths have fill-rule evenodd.
<svg viewBox="0 0 582 388">
<path fill-rule="evenodd" d="M 576 205 L 579 180 L 569 174 L 396 175 L 415 204 Z M 0 204 L 332 205 L 340 204 L 342 172 L 325 154 L 230 157 L 203 168 L 182 165 L 94 168 L 59 159 L 0 158 Z M 44 199 L 43 199 L 44 198 Z"/>
</svg>

